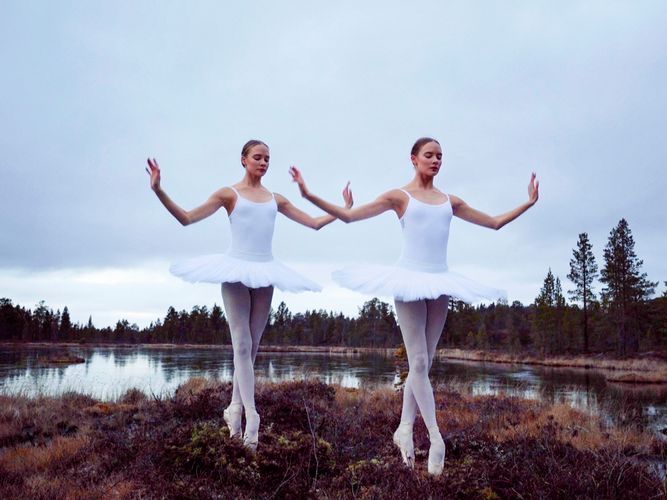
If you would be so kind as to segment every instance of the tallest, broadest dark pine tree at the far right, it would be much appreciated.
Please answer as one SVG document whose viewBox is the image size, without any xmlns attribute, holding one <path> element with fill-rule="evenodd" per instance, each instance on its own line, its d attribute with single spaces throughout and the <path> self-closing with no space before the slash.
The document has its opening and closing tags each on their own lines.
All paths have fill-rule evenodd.
<svg viewBox="0 0 667 500">
<path fill-rule="evenodd" d="M 625 355 L 639 350 L 639 308 L 654 292 L 657 282 L 641 272 L 644 264 L 635 254 L 635 241 L 625 219 L 609 233 L 600 281 L 602 300 L 618 329 L 619 350 Z"/>
</svg>

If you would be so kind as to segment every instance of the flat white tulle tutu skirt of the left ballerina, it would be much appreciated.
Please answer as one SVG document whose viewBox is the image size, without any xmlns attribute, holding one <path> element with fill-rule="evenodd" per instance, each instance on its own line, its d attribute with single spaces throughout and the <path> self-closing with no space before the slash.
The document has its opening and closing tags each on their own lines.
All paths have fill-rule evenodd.
<svg viewBox="0 0 667 500">
<path fill-rule="evenodd" d="M 236 283 L 248 288 L 273 285 L 285 292 L 320 291 L 314 281 L 275 260 L 252 261 L 227 254 L 202 255 L 173 264 L 169 271 L 192 283 Z"/>
</svg>

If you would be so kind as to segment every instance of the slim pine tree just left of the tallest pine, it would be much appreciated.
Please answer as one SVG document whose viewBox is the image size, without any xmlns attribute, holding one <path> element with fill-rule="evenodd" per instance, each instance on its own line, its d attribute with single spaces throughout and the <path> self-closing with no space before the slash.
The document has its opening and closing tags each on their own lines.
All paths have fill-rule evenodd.
<svg viewBox="0 0 667 500">
<path fill-rule="evenodd" d="M 593 246 L 588 241 L 588 233 L 581 233 L 577 248 L 572 250 L 570 273 L 567 278 L 574 283 L 575 289 L 568 293 L 573 301 L 581 301 L 584 312 L 584 352 L 588 352 L 588 310 L 595 301 L 593 281 L 598 275 L 598 266 L 593 255 Z"/>
</svg>

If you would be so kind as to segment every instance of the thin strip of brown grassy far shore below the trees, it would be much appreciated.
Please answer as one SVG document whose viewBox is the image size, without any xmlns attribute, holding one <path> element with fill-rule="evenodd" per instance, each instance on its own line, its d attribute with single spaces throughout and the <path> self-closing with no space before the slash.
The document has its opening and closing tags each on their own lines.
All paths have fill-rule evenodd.
<svg viewBox="0 0 667 500">
<path fill-rule="evenodd" d="M 128 343 L 86 343 L 77 342 L 7 342 L 0 341 L 0 347 L 52 347 L 52 348 L 96 348 L 120 347 L 139 349 L 202 349 L 231 351 L 230 344 L 128 344 Z M 395 356 L 395 347 L 345 347 L 345 346 L 284 346 L 260 345 L 259 352 L 264 353 L 317 353 L 317 354 L 383 354 Z M 667 384 L 667 360 L 657 356 L 638 355 L 631 358 L 618 358 L 604 354 L 574 356 L 535 356 L 532 354 L 510 354 L 496 351 L 440 348 L 436 358 L 478 363 L 521 364 L 546 366 L 552 368 L 576 368 L 597 370 L 605 374 L 609 382 L 621 384 Z"/>
</svg>

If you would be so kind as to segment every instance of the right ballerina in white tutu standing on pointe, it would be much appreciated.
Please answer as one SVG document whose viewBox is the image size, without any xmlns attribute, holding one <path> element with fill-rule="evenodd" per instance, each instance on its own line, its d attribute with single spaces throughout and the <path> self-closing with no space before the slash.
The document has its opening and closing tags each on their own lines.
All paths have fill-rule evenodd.
<svg viewBox="0 0 667 500">
<path fill-rule="evenodd" d="M 437 140 L 430 137 L 417 140 L 410 159 L 414 177 L 408 184 L 387 191 L 375 201 L 354 209 L 351 208 L 349 183 L 343 192 L 346 206 L 340 207 L 314 195 L 296 167 L 291 167 L 290 173 L 304 198 L 346 223 L 375 217 L 388 210 L 393 210 L 399 218 L 403 228 L 403 250 L 394 266 L 348 266 L 334 272 L 333 278 L 339 285 L 355 291 L 394 298 L 409 371 L 403 392 L 401 422 L 393 440 L 404 463 L 413 468 L 412 429 L 418 407 L 431 442 L 428 472 L 439 475 L 444 466 L 445 443 L 436 420 L 435 399 L 428 373 L 447 319 L 449 298 L 475 302 L 480 299 L 496 300 L 505 295 L 502 290 L 476 283 L 448 269 L 447 241 L 452 216 L 500 229 L 537 202 L 539 182 L 533 173 L 528 184 L 528 201 L 493 217 L 433 185 L 442 165 L 442 148 Z"/>
</svg>

